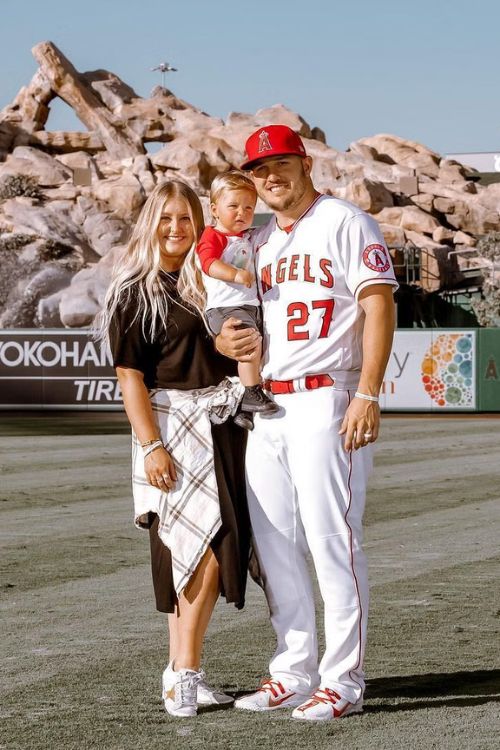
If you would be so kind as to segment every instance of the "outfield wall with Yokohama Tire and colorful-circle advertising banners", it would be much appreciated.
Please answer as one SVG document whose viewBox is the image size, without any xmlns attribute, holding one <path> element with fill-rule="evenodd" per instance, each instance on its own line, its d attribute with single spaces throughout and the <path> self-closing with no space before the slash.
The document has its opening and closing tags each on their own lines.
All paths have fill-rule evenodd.
<svg viewBox="0 0 500 750">
<path fill-rule="evenodd" d="M 388 411 L 500 412 L 500 329 L 401 329 Z M 0 330 L 0 409 L 122 409 L 110 353 L 88 330 Z"/>
</svg>

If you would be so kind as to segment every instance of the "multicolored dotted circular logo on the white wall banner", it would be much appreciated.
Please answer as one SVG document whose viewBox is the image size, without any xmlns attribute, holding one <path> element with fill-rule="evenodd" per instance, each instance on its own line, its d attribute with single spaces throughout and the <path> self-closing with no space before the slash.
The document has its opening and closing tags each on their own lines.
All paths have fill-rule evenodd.
<svg viewBox="0 0 500 750">
<path fill-rule="evenodd" d="M 473 406 L 472 334 L 443 333 L 422 360 L 422 383 L 438 406 Z"/>
</svg>

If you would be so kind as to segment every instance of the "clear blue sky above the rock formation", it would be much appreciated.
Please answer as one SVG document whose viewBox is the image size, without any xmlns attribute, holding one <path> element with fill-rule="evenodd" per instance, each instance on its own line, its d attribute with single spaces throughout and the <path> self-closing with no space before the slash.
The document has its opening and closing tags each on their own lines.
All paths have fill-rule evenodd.
<svg viewBox="0 0 500 750">
<path fill-rule="evenodd" d="M 55 42 L 78 70 L 106 68 L 138 94 L 167 85 L 209 114 L 277 102 L 344 149 L 387 132 L 441 153 L 500 151 L 498 0 L 3 0 L 0 108 Z M 48 127 L 78 124 L 54 105 Z"/>
</svg>

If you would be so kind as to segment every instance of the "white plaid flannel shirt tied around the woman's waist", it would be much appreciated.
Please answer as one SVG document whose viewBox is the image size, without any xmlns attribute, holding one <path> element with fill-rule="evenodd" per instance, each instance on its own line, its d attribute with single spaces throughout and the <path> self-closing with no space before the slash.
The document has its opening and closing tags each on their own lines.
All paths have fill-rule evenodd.
<svg viewBox="0 0 500 750">
<path fill-rule="evenodd" d="M 158 535 L 172 555 L 177 595 L 222 523 L 211 423 L 220 424 L 235 414 L 243 391 L 237 378 L 198 390 L 150 391 L 158 432 L 177 471 L 177 482 L 169 492 L 148 483 L 141 445 L 132 432 L 134 523 L 147 528 L 148 514 L 158 515 Z"/>
</svg>

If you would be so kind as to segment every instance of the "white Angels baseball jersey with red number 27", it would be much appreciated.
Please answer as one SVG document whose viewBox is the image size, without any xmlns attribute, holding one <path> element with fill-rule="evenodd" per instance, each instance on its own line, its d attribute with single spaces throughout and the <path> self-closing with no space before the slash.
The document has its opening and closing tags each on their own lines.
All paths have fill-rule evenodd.
<svg viewBox="0 0 500 750">
<path fill-rule="evenodd" d="M 252 242 L 264 317 L 263 377 L 335 372 L 337 387 L 356 387 L 364 322 L 358 295 L 369 284 L 397 287 L 375 219 L 319 195 L 291 227 L 280 229 L 273 217 Z"/>
</svg>

